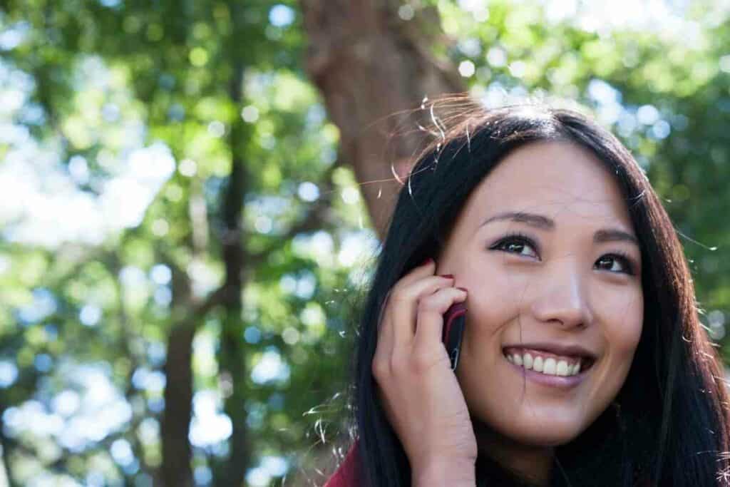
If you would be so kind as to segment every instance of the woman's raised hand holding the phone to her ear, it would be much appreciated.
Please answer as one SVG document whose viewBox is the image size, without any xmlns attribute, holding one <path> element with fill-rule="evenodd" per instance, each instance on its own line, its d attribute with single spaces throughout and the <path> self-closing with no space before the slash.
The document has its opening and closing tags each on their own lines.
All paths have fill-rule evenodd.
<svg viewBox="0 0 730 487">
<path fill-rule="evenodd" d="M 462 481 L 468 483 L 475 475 L 477 441 L 441 337 L 444 313 L 464 302 L 466 290 L 453 287 L 451 276 L 434 275 L 435 270 L 429 259 L 391 289 L 381 314 L 372 373 L 388 421 L 410 461 L 414 483 L 426 485 L 424 477 L 434 472 L 449 478 L 448 485 L 457 485 L 453 480 L 464 485 Z M 466 472 L 465 465 L 471 465 Z M 458 479 L 452 469 L 458 469 L 453 472 Z"/>
</svg>

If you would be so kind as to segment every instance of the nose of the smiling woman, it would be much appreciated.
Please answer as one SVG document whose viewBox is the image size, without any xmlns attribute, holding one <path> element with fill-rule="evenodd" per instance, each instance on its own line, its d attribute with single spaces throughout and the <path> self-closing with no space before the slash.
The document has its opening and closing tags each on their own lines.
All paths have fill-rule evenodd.
<svg viewBox="0 0 730 487">
<path fill-rule="evenodd" d="M 575 260 L 564 258 L 551 264 L 545 266 L 545 272 L 536 283 L 531 304 L 534 317 L 566 329 L 588 325 L 592 320 L 588 289 Z"/>
</svg>

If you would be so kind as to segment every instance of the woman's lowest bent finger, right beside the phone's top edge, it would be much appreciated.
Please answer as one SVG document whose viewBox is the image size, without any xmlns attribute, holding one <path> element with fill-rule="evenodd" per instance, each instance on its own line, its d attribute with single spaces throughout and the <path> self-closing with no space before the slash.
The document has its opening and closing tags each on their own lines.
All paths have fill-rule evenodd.
<svg viewBox="0 0 730 487">
<path fill-rule="evenodd" d="M 461 288 L 442 288 L 431 296 L 418 302 L 418 329 L 415 331 L 413 353 L 419 361 L 440 360 L 446 354 L 436 353 L 446 350 L 442 345 L 444 313 L 452 304 L 463 302 L 466 291 Z"/>
</svg>

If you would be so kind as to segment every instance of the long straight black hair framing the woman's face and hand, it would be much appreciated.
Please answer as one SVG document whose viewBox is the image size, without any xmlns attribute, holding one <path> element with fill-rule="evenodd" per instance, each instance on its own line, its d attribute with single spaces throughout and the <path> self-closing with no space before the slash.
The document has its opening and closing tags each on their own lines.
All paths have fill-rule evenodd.
<svg viewBox="0 0 730 487">
<path fill-rule="evenodd" d="M 467 97 L 434 102 L 437 140 L 403 183 L 361 310 L 352 411 L 361 482 L 410 486 L 410 466 L 376 394 L 377 320 L 399 278 L 437 256 L 469 194 L 511 151 L 538 141 L 590 150 L 615 177 L 642 251 L 642 336 L 621 391 L 577 439 L 556 449 L 553 485 L 726 485 L 729 408 L 722 369 L 696 312 L 694 287 L 672 222 L 648 178 L 609 131 L 572 110 L 538 104 L 487 110 Z M 434 107 L 431 107 L 434 112 Z M 521 485 L 477 459 L 477 485 Z"/>
</svg>

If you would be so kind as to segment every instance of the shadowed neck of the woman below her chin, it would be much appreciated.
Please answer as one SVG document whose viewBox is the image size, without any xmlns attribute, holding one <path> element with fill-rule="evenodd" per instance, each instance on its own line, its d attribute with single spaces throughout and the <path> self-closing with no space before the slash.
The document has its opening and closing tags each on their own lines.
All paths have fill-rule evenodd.
<svg viewBox="0 0 730 487">
<path fill-rule="evenodd" d="M 485 454 L 505 469 L 538 486 L 548 486 L 553 469 L 551 447 L 537 447 L 515 442 L 483 423 L 474 421 L 480 454 Z"/>
</svg>

